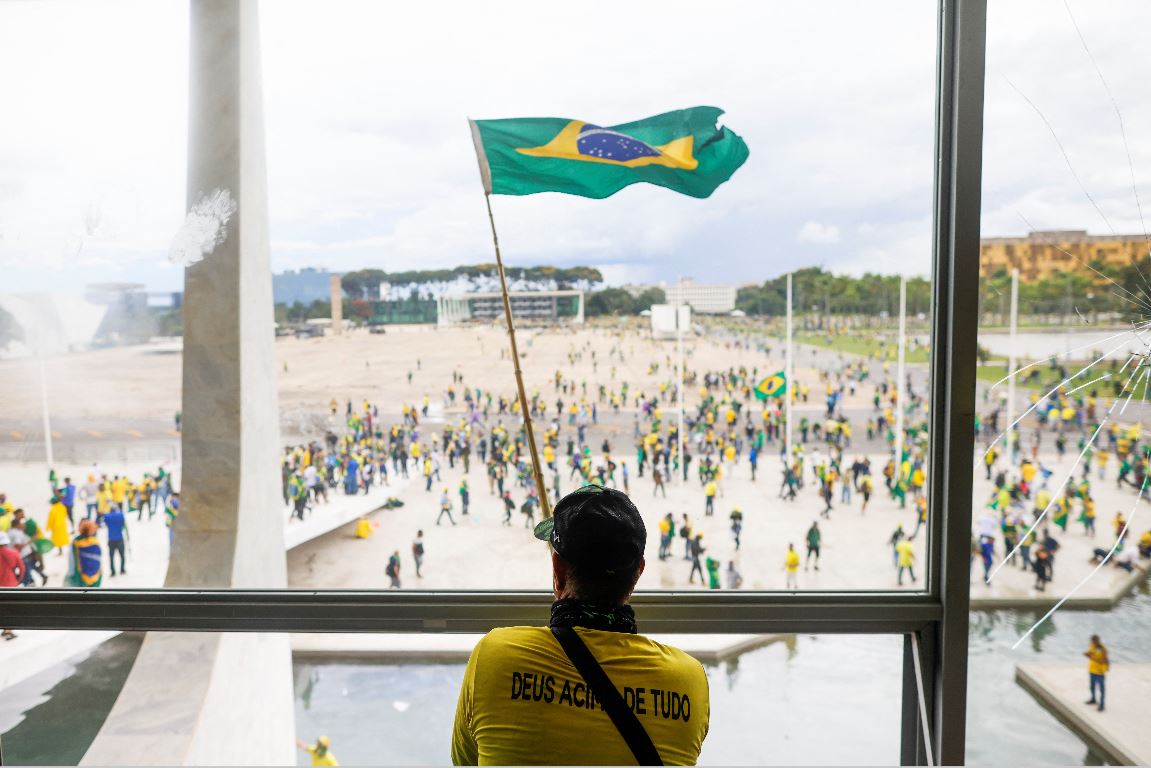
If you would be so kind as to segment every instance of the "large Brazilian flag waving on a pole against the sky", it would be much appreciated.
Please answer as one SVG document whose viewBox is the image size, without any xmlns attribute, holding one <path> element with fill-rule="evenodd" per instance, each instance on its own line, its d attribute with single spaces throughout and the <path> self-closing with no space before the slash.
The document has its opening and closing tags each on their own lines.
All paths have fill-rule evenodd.
<svg viewBox="0 0 1151 768">
<path fill-rule="evenodd" d="M 563 117 L 470 122 L 488 195 L 604 198 L 647 182 L 708 197 L 747 160 L 744 139 L 717 124 L 722 114 L 691 107 L 608 127 Z"/>
</svg>

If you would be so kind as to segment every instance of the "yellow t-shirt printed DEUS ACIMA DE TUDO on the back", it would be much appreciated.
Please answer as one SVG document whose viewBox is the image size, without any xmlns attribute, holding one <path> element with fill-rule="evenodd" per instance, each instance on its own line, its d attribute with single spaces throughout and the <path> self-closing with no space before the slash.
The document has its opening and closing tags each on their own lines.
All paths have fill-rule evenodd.
<svg viewBox="0 0 1151 768">
<path fill-rule="evenodd" d="M 577 628 L 664 765 L 694 765 L 708 733 L 703 666 L 641 634 Z M 456 707 L 457 766 L 631 765 L 608 713 L 546 626 L 489 632 L 467 661 Z"/>
</svg>

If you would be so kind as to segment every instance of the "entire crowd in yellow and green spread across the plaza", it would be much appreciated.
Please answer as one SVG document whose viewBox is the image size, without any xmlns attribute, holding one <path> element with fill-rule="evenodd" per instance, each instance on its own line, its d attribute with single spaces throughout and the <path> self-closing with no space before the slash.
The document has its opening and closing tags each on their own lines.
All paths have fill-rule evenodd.
<svg viewBox="0 0 1151 768">
<path fill-rule="evenodd" d="M 799 510 L 808 510 L 813 518 L 803 523 L 806 533 L 793 531 L 771 542 L 784 584 L 798 588 L 800 570 L 820 570 L 826 552 L 824 537 L 841 541 L 836 538 L 836 519 L 845 512 L 868 516 L 877 495 L 883 495 L 885 509 L 906 511 L 893 531 L 887 527 L 890 533 L 874 541 L 889 547 L 893 585 L 917 584 L 916 542 L 929 518 L 929 435 L 928 404 L 912 377 L 897 382 L 886 359 L 826 353 L 820 362 L 798 360 L 795 380 L 763 397 L 757 385 L 775 367 L 765 363 L 762 370 L 754 365 L 709 368 L 694 365 L 689 353 L 680 371 L 671 355 L 651 344 L 649 357 L 638 366 L 642 342 L 624 332 L 609 332 L 607 342 L 603 333 L 600 336 L 570 344 L 569 366 L 549 373 L 546 386 L 528 390 L 541 472 L 552 500 L 584 485 L 619 488 L 637 499 L 650 488 L 656 500 L 668 497 L 669 486 L 691 488 L 689 497 L 698 499 L 699 507 L 693 509 L 694 502 L 688 502 L 686 509 L 654 516 L 660 560 L 670 563 L 678 557 L 672 550 L 681 548 L 687 584 L 739 588 L 745 583 L 745 524 L 756 510 L 747 505 L 746 496 L 742 505 L 727 504 L 725 492 L 733 478 L 741 485 L 764 484 L 769 487 L 761 494 L 763 503 L 794 507 L 800 515 L 805 512 Z M 765 337 L 732 333 L 710 341 L 731 350 L 733 360 L 769 359 Z M 628 381 L 627 372 L 634 375 L 638 370 L 647 374 L 641 383 Z M 426 374 L 419 365 L 416 371 L 422 382 Z M 790 442 L 785 439 L 785 397 L 793 404 Z M 468 520 L 477 503 L 497 509 L 496 519 L 508 527 L 531 529 L 541 518 L 520 403 L 510 387 L 508 391 L 475 387 L 453 370 L 450 379 L 433 382 L 422 396 L 404 401 L 396 413 L 394 403 L 333 398 L 327 433 L 284 448 L 282 456 L 282 494 L 290 522 L 304 520 L 336 496 L 369 494 L 390 487 L 396 478 L 407 481 L 404 493 L 397 491 L 383 505 L 396 508 L 406 501 L 427 507 L 430 514 L 413 524 L 419 535 L 405 537 L 411 540 L 410 557 L 401 555 L 406 546 L 389 547 L 386 575 L 394 587 L 402 585 L 405 561 L 418 561 L 414 571 L 421 577 L 427 526 Z M 904 412 L 897 413 L 900 403 Z M 1082 523 L 1084 535 L 1095 535 L 1092 482 L 1114 480 L 1120 488 L 1145 491 L 1151 453 L 1137 426 L 1108 423 L 1098 444 L 1089 444 L 1100 410 L 1097 403 L 1095 393 L 1078 398 L 1057 394 L 1042 402 L 1035 396 L 1034 424 L 1027 424 L 1027 432 L 1015 431 L 1009 451 L 997 443 L 984 456 L 985 476 L 994 491 L 985 509 L 976 512 L 971 546 L 973 563 L 982 560 L 984 576 L 1009 556 L 1013 564 L 1034 571 L 1035 588 L 1043 590 L 1053 576 L 1057 535 L 1067 533 L 1073 517 Z M 1003 406 L 990 401 L 989 405 L 976 428 L 994 435 Z M 1060 456 L 1076 442 L 1082 451 L 1074 481 L 1066 487 L 1059 486 L 1059 478 L 1039 458 L 1046 434 L 1052 435 Z M 1029 451 L 1022 449 L 1024 442 Z M 482 477 L 472 473 L 473 464 Z M 761 477 L 765 469 L 779 472 L 778 491 L 772 479 Z M 122 573 L 129 522 L 151 519 L 161 509 L 169 519 L 178 514 L 178 495 L 171 493 L 170 478 L 162 470 L 138 480 L 93 473 L 78 486 L 64 478 L 54 481 L 52 495 L 43 527 L 31 523 L 37 531 L 29 537 L 31 541 L 23 541 L 20 533 L 9 534 L 20 545 L 21 560 L 28 558 L 21 572 L 25 584 L 33 576 L 44 579 L 43 569 L 37 570 L 44 555 L 38 547 L 69 550 L 78 563 L 69 583 L 78 586 L 97 585 L 106 572 L 109 578 Z M 683 493 L 677 507 L 681 499 Z M 94 531 L 77 519 L 81 510 Z M 15 509 L 12 512 L 12 519 L 17 519 Z M 725 520 L 730 533 L 718 540 L 710 522 L 716 516 Z M 702 519 L 709 523 L 700 524 Z M 1114 554 L 1102 547 L 1097 557 L 1116 568 L 1141 568 L 1139 560 L 1151 555 L 1151 532 L 1136 539 L 1120 522 L 1113 525 L 1116 532 L 1123 531 L 1120 546 Z M 704 529 L 710 538 L 704 537 Z M 101 530 L 104 535 L 94 535 Z M 360 525 L 357 534 L 368 538 L 373 530 Z M 37 539 L 52 546 L 37 545 Z M 755 543 L 762 547 L 763 542 Z M 857 548 L 860 542 L 851 546 Z M 761 562 L 749 568 L 757 577 L 775 570 Z"/>
</svg>

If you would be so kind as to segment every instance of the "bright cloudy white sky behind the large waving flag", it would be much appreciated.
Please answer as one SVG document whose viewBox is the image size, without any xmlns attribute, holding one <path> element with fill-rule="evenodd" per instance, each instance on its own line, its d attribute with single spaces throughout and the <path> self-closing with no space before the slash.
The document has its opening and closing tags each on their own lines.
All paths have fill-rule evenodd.
<svg viewBox="0 0 1151 768">
<path fill-rule="evenodd" d="M 1068 2 L 1151 219 L 1137 45 L 1151 3 Z M 984 235 L 1023 234 L 1023 219 L 1139 231 L 1119 121 L 1064 1 L 990 5 Z M 490 260 L 467 116 L 613 124 L 693 105 L 724 108 L 750 147 L 711 198 L 497 197 L 505 258 L 595 265 L 615 283 L 929 271 L 928 0 L 276 0 L 261 24 L 277 271 Z M 0 291 L 181 288 L 168 250 L 185 214 L 186 36 L 176 0 L 0 2 Z"/>
</svg>

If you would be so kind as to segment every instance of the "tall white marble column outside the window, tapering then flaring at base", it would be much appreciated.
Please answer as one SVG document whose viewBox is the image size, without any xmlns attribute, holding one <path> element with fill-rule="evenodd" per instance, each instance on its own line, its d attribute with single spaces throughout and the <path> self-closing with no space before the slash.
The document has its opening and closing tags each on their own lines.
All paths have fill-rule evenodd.
<svg viewBox="0 0 1151 768">
<path fill-rule="evenodd" d="M 165 586 L 283 587 L 272 269 L 256 0 L 190 3 L 188 206 L 227 238 L 184 275 L 183 508 Z M 295 762 L 287 634 L 151 632 L 86 765 Z"/>
</svg>

